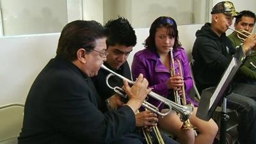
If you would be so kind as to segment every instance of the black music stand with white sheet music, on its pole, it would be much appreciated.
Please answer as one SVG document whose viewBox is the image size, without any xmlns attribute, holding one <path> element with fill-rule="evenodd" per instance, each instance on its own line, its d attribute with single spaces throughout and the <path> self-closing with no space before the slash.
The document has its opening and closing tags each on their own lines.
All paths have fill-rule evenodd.
<svg viewBox="0 0 256 144">
<path fill-rule="evenodd" d="M 216 86 L 216 89 L 212 93 L 211 90 L 204 90 L 201 95 L 201 99 L 199 102 L 198 110 L 196 116 L 202 120 L 208 121 L 212 114 L 214 113 L 215 109 L 218 106 L 218 103 L 221 99 L 223 99 L 223 103 L 221 105 L 221 125 L 220 125 L 220 143 L 226 143 L 226 127 L 227 127 L 227 120 L 228 115 L 226 113 L 227 109 L 227 88 L 232 81 L 232 78 L 237 72 L 237 69 L 241 65 L 243 61 L 243 56 L 241 53 L 236 53 L 232 60 L 230 61 L 228 67 L 226 68 L 223 76 L 221 77 L 220 82 Z"/>
</svg>

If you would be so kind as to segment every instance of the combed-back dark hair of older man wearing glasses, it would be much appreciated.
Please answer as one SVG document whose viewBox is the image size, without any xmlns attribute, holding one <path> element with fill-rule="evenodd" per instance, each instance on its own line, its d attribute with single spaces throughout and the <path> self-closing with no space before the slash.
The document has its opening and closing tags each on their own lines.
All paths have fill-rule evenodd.
<svg viewBox="0 0 256 144">
<path fill-rule="evenodd" d="M 95 20 L 70 22 L 61 31 L 56 54 L 70 61 L 77 60 L 78 49 L 94 49 L 95 40 L 104 37 L 106 30 Z"/>
</svg>

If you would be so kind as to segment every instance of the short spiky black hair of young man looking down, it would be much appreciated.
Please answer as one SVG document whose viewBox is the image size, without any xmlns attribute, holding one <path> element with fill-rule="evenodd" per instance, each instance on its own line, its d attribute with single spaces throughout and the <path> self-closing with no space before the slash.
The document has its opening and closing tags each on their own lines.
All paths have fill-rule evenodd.
<svg viewBox="0 0 256 144">
<path fill-rule="evenodd" d="M 115 20 L 109 20 L 105 24 L 105 28 L 108 30 L 108 38 L 106 41 L 107 47 L 109 45 L 114 46 L 125 45 L 127 47 L 136 45 L 137 38 L 135 31 L 131 24 L 124 17 L 118 17 Z"/>
</svg>

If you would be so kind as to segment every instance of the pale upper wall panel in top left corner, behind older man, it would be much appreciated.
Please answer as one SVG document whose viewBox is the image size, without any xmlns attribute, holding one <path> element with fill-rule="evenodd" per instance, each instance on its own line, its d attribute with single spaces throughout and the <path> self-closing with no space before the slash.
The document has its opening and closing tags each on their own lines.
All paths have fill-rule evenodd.
<svg viewBox="0 0 256 144">
<path fill-rule="evenodd" d="M 67 23 L 63 0 L 1 0 L 1 12 L 6 36 L 57 33 Z"/>
</svg>

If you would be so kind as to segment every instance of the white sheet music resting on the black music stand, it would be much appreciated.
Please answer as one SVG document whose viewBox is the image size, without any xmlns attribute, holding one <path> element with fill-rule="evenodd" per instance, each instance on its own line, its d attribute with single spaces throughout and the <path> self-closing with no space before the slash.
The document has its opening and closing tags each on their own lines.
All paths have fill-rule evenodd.
<svg viewBox="0 0 256 144">
<path fill-rule="evenodd" d="M 235 67 L 235 65 L 236 65 L 236 60 L 235 60 L 235 58 L 232 58 L 232 60 L 230 61 L 230 64 L 227 67 L 227 70 L 225 71 L 224 75 L 221 77 L 220 83 L 218 84 L 216 90 L 212 94 L 212 97 L 210 99 L 210 104 L 209 104 L 209 108 L 208 109 L 210 109 L 212 107 L 212 104 L 216 100 L 216 98 L 218 96 L 218 93 L 220 93 L 220 90 L 223 87 L 223 84 L 225 83 L 227 77 L 229 76 L 231 70 Z M 225 78 L 223 78 L 223 77 L 225 77 Z"/>
</svg>

